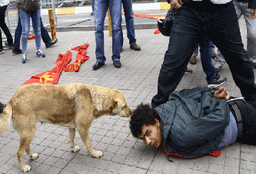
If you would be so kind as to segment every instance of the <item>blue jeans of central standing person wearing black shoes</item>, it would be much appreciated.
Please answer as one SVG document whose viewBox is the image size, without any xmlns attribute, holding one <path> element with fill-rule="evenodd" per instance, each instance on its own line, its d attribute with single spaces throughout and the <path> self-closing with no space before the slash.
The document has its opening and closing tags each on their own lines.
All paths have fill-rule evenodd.
<svg viewBox="0 0 256 174">
<path fill-rule="evenodd" d="M 108 11 L 111 15 L 112 25 L 112 61 L 120 61 L 120 22 L 121 22 L 121 1 L 120 0 L 95 0 L 95 40 L 96 58 L 98 62 L 105 64 L 104 54 L 104 21 Z"/>
</svg>

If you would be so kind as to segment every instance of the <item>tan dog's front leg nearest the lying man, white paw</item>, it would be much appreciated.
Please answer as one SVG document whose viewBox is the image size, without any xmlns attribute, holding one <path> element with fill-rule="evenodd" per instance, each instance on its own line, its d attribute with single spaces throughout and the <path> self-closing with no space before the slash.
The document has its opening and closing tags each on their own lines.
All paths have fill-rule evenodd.
<svg viewBox="0 0 256 174">
<path fill-rule="evenodd" d="M 78 132 L 81 136 L 81 140 L 83 141 L 83 143 L 86 146 L 86 149 L 88 150 L 88 153 L 91 153 L 91 155 L 96 157 L 96 158 L 99 158 L 99 157 L 103 156 L 101 151 L 96 151 L 95 149 L 92 148 L 91 139 L 90 139 L 90 136 L 89 136 L 89 129 L 85 129 L 83 131 L 78 130 Z"/>
</svg>

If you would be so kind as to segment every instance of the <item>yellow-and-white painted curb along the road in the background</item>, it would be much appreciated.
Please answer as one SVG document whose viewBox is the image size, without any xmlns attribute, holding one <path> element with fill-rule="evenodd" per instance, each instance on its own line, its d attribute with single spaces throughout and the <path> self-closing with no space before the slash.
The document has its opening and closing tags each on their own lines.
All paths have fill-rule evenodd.
<svg viewBox="0 0 256 174">
<path fill-rule="evenodd" d="M 171 7 L 167 2 L 152 2 L 152 3 L 135 3 L 132 4 L 134 11 L 149 11 L 149 10 L 168 10 Z M 48 9 L 42 9 L 43 13 L 48 13 Z M 92 12 L 91 6 L 72 7 L 72 8 L 55 8 L 56 15 L 72 15 Z"/>
</svg>

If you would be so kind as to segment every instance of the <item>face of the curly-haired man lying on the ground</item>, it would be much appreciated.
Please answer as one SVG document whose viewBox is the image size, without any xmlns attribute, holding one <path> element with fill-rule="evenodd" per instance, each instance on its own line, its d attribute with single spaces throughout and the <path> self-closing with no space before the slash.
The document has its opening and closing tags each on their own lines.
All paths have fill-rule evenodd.
<svg viewBox="0 0 256 174">
<path fill-rule="evenodd" d="M 156 120 L 155 125 L 143 125 L 141 127 L 141 135 L 139 138 L 147 145 L 158 148 L 161 145 L 161 124 Z"/>
</svg>

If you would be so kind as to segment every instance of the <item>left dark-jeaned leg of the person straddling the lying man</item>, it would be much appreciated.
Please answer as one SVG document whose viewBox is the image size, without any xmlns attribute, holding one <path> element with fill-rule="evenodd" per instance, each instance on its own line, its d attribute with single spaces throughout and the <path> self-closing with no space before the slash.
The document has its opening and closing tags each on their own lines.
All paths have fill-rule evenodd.
<svg viewBox="0 0 256 174">
<path fill-rule="evenodd" d="M 152 109 L 165 103 L 180 83 L 188 61 L 198 45 L 202 32 L 200 25 L 200 20 L 193 12 L 187 8 L 177 9 L 171 28 L 168 51 L 165 52 L 165 59 L 158 77 L 158 94 L 152 99 Z"/>
</svg>

